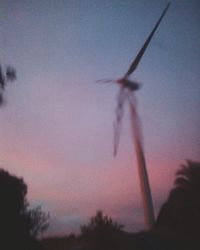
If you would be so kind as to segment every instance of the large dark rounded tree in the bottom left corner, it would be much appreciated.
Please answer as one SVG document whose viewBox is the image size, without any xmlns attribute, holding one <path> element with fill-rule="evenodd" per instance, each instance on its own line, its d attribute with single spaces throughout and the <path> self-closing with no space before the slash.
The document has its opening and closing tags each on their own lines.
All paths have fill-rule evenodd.
<svg viewBox="0 0 200 250">
<path fill-rule="evenodd" d="M 31 209 L 23 179 L 0 169 L 0 249 L 36 249 L 36 236 L 47 228 L 48 215 Z"/>
</svg>

